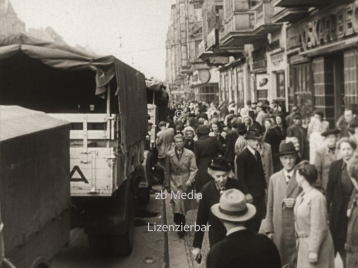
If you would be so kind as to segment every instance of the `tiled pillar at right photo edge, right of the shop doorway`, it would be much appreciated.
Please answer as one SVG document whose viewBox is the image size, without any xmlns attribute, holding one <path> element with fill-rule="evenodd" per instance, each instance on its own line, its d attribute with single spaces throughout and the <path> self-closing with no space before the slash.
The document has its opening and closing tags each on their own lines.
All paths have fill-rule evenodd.
<svg viewBox="0 0 358 268">
<path fill-rule="evenodd" d="M 345 104 L 358 103 L 358 49 L 344 52 Z"/>
</svg>

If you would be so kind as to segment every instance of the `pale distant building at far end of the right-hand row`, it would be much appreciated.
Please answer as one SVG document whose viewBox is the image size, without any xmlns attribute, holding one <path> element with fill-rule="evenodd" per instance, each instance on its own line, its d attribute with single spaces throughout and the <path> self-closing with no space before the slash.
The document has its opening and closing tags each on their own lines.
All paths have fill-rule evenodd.
<svg viewBox="0 0 358 268">
<path fill-rule="evenodd" d="M 218 71 L 199 59 L 203 41 L 203 1 L 176 0 L 166 40 L 166 83 L 174 98 L 219 100 Z"/>
</svg>

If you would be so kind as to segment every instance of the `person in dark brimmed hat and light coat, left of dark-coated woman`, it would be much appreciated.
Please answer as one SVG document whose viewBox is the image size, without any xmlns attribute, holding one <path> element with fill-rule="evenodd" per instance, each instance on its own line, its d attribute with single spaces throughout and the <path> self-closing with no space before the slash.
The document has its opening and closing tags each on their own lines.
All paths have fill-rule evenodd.
<svg viewBox="0 0 358 268">
<path fill-rule="evenodd" d="M 318 172 L 318 183 L 326 190 L 328 183 L 328 172 L 331 163 L 340 159 L 339 150 L 336 148 L 339 129 L 330 129 L 323 132 L 321 135 L 325 138 L 325 147 L 319 148 L 316 151 L 315 166 Z"/>
</svg>

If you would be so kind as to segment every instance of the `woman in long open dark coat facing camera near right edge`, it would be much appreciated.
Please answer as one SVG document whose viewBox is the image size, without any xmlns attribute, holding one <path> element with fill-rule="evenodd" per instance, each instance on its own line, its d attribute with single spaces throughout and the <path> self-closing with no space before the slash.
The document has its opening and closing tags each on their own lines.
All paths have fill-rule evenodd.
<svg viewBox="0 0 358 268">
<path fill-rule="evenodd" d="M 326 198 L 329 210 L 329 228 L 334 242 L 334 255 L 338 252 L 345 262 L 344 243 L 346 242 L 348 227 L 347 208 L 354 188 L 348 174 L 347 163 L 357 145 L 349 138 L 341 138 L 337 147 L 342 159 L 331 163 L 328 172 Z"/>
</svg>

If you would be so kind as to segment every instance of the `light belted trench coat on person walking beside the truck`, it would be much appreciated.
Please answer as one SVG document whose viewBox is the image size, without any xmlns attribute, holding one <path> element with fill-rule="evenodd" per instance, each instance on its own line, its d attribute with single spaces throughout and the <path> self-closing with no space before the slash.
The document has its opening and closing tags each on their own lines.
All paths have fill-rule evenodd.
<svg viewBox="0 0 358 268">
<path fill-rule="evenodd" d="M 194 178 L 197 172 L 195 155 L 188 149 L 183 149 L 183 154 L 180 160 L 175 154 L 175 149 L 170 150 L 166 154 L 165 164 L 165 184 L 170 186 L 171 191 L 176 194 L 177 192 L 190 192 L 194 193 Z M 190 181 L 191 186 L 187 186 L 186 182 Z M 169 193 L 171 198 L 171 193 Z M 180 213 L 186 215 L 187 211 L 196 208 L 196 200 L 193 199 L 175 199 L 170 200 L 173 213 Z"/>
</svg>

